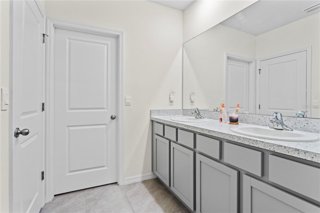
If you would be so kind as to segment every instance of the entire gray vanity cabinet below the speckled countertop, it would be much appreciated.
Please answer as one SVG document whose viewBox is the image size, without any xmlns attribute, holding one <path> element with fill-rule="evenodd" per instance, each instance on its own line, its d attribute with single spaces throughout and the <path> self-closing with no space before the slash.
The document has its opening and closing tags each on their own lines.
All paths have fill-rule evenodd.
<svg viewBox="0 0 320 213">
<path fill-rule="evenodd" d="M 318 163 L 159 122 L 152 135 L 153 172 L 192 211 L 320 212 Z"/>
</svg>

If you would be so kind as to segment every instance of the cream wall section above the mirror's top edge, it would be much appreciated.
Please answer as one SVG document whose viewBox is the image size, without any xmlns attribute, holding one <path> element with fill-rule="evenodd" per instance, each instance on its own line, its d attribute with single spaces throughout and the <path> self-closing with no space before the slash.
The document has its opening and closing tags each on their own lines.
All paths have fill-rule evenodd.
<svg viewBox="0 0 320 213">
<path fill-rule="evenodd" d="M 196 0 L 183 11 L 183 42 L 220 23 L 257 0 Z"/>
</svg>

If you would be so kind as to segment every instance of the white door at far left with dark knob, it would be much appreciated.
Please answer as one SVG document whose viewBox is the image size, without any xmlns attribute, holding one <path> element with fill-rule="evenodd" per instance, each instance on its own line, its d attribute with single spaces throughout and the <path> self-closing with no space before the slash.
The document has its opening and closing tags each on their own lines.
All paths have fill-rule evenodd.
<svg viewBox="0 0 320 213">
<path fill-rule="evenodd" d="M 44 204 L 43 16 L 36 2 L 12 8 L 12 212 L 39 212 Z M 19 130 L 19 129 L 20 130 Z"/>
</svg>

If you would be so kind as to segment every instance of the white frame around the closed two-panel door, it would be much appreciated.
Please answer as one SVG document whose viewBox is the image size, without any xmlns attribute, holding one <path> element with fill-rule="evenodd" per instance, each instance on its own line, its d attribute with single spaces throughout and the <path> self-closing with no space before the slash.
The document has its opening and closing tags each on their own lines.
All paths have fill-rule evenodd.
<svg viewBox="0 0 320 213">
<path fill-rule="evenodd" d="M 53 17 L 46 17 L 46 34 L 48 34 L 46 42 L 46 57 L 45 57 L 45 202 L 49 202 L 54 196 L 54 33 L 55 28 L 75 30 L 80 32 L 93 33 L 104 36 L 117 37 L 117 123 L 116 123 L 116 159 L 117 159 L 117 182 L 124 183 L 123 175 L 123 70 L 122 70 L 122 39 L 123 32 L 98 28 L 95 26 L 84 25 L 81 23 L 70 22 Z"/>
</svg>

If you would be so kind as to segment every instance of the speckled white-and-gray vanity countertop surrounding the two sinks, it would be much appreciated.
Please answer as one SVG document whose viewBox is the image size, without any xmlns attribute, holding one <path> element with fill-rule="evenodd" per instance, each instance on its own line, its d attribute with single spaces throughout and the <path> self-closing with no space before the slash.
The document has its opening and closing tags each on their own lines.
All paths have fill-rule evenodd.
<svg viewBox="0 0 320 213">
<path fill-rule="evenodd" d="M 179 115 L 181 116 L 181 115 Z M 220 137 L 227 140 L 275 151 L 278 153 L 287 154 L 290 156 L 307 159 L 320 163 L 320 140 L 314 142 L 289 142 L 280 140 L 262 139 L 251 136 L 246 136 L 232 132 L 228 123 L 221 123 L 218 120 L 210 119 L 207 122 L 178 122 L 171 120 L 175 116 L 151 116 L 151 120 L 158 121 L 164 124 L 196 131 L 203 134 L 208 134 Z M 239 123 L 238 126 L 256 126 L 252 124 Z M 262 127 L 262 126 L 261 126 Z M 264 126 L 265 127 L 265 126 Z M 317 134 L 317 133 L 314 133 Z M 318 134 L 319 135 L 319 134 Z"/>
</svg>

